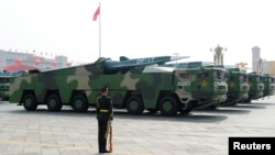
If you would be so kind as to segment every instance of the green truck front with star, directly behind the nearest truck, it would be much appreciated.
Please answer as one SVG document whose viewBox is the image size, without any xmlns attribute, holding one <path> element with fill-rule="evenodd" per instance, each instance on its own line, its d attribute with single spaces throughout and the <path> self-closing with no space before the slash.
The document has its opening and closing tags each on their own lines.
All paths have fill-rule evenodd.
<svg viewBox="0 0 275 155">
<path fill-rule="evenodd" d="M 229 67 L 227 69 L 229 70 L 228 99 L 224 106 L 248 100 L 250 90 L 248 74 L 240 70 L 239 67 Z"/>
</svg>

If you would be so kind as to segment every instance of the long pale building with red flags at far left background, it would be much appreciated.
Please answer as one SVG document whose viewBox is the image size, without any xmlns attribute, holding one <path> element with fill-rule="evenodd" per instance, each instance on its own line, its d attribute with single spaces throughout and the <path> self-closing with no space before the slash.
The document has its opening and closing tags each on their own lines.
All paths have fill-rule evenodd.
<svg viewBox="0 0 275 155">
<path fill-rule="evenodd" d="M 53 69 L 70 66 L 66 56 L 55 56 L 54 58 L 36 55 L 35 51 L 30 53 L 19 53 L 0 49 L 0 70 L 29 70 L 29 69 Z"/>
</svg>

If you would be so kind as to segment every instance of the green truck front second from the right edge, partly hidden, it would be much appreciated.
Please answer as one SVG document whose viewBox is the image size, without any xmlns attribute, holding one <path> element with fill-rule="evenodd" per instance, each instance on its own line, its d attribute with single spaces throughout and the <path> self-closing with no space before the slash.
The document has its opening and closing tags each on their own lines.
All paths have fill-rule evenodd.
<svg viewBox="0 0 275 155">
<path fill-rule="evenodd" d="M 249 85 L 250 85 L 250 91 L 249 91 L 249 98 L 243 101 L 245 103 L 250 103 L 252 100 L 257 100 L 260 98 L 263 98 L 264 96 L 264 78 L 263 75 L 260 75 L 257 73 L 249 73 Z"/>
</svg>

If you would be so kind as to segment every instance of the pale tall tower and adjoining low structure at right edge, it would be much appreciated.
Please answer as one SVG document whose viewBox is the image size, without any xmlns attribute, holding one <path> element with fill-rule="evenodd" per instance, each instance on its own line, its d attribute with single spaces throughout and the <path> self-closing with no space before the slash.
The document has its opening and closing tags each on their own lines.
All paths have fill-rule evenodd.
<svg viewBox="0 0 275 155">
<path fill-rule="evenodd" d="M 266 60 L 261 57 L 261 48 L 252 48 L 252 71 L 275 76 L 275 60 Z"/>
</svg>

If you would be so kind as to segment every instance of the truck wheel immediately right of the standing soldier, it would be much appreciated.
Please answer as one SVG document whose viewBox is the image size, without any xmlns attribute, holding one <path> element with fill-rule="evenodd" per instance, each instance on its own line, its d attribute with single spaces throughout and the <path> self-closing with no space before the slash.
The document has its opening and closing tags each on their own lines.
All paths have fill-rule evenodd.
<svg viewBox="0 0 275 155">
<path fill-rule="evenodd" d="M 142 114 L 144 110 L 143 101 L 140 97 L 132 96 L 127 100 L 127 110 L 131 114 Z"/>
</svg>

